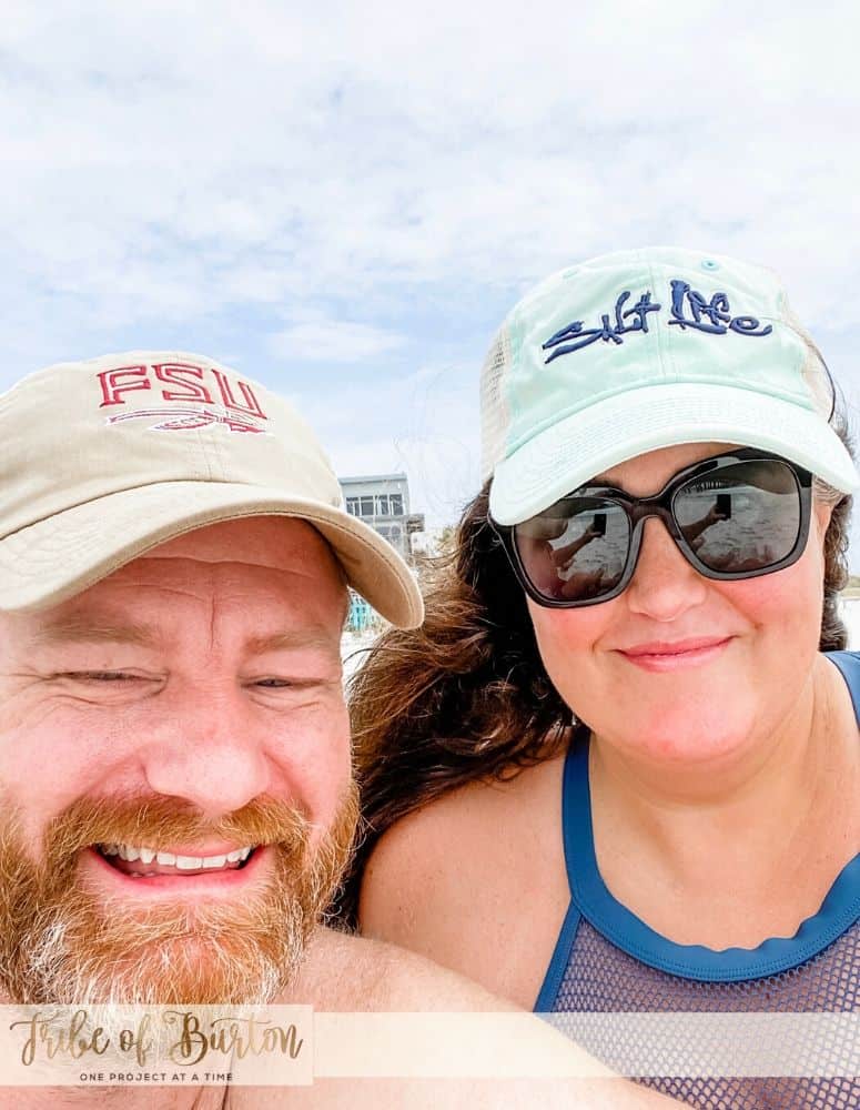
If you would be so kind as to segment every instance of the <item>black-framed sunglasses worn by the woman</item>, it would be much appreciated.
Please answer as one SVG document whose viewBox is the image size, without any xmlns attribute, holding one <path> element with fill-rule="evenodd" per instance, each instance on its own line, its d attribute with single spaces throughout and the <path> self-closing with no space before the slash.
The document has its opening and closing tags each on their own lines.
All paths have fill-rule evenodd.
<svg viewBox="0 0 860 1110">
<path fill-rule="evenodd" d="M 699 574 L 732 582 L 796 563 L 811 506 L 809 471 L 745 447 L 685 467 L 652 497 L 589 483 L 522 524 L 489 523 L 528 596 L 574 608 L 626 588 L 649 516 L 662 521 Z"/>
</svg>

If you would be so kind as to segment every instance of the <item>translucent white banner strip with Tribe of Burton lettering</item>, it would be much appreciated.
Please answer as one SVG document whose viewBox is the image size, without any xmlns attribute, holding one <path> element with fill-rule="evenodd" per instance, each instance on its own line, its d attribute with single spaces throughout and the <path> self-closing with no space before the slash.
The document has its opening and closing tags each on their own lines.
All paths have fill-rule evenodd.
<svg viewBox="0 0 860 1110">
<path fill-rule="evenodd" d="M 7 1006 L 0 1007 L 0 1076 L 13 1087 L 860 1076 L 858 1013 L 543 1017 Z"/>
</svg>

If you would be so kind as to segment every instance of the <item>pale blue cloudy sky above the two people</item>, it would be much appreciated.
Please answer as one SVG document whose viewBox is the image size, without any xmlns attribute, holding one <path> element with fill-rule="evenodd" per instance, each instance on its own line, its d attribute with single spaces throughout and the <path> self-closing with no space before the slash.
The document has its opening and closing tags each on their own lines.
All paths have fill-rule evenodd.
<svg viewBox="0 0 860 1110">
<path fill-rule="evenodd" d="M 780 271 L 857 410 L 858 10 L 6 0 L 0 386 L 203 352 L 442 524 L 507 309 L 660 242 Z"/>
</svg>

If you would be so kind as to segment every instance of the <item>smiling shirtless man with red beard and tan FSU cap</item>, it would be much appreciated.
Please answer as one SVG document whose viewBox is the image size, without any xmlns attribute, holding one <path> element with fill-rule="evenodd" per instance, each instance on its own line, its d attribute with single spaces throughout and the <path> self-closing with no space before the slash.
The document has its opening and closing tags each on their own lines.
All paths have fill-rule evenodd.
<svg viewBox="0 0 860 1110">
<path fill-rule="evenodd" d="M 24 379 L 0 445 L 0 1000 L 503 1009 L 320 925 L 357 820 L 346 586 L 403 626 L 422 602 L 299 415 L 135 352 Z"/>
</svg>

